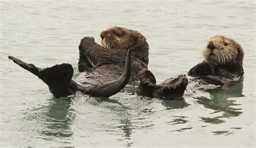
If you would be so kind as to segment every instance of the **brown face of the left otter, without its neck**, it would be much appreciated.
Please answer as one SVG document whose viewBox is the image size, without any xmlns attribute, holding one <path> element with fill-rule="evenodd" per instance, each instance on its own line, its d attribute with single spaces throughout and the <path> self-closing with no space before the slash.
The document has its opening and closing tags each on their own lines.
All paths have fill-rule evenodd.
<svg viewBox="0 0 256 148">
<path fill-rule="evenodd" d="M 128 49 L 146 39 L 137 31 L 124 27 L 111 27 L 100 33 L 102 46 L 105 48 Z"/>
</svg>

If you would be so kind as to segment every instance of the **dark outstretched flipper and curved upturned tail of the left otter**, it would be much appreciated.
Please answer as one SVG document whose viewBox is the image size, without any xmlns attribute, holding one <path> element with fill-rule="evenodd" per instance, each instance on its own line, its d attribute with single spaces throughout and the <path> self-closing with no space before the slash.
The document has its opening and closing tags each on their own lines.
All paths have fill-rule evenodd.
<svg viewBox="0 0 256 148">
<path fill-rule="evenodd" d="M 109 97 L 122 90 L 131 76 L 131 49 L 127 52 L 125 69 L 119 79 L 87 88 L 84 88 L 71 80 L 73 68 L 70 64 L 38 68 L 35 65 L 27 64 L 12 56 L 9 56 L 8 58 L 29 72 L 37 75 L 39 79 L 43 80 L 49 86 L 51 93 L 57 98 L 71 95 L 77 90 L 92 96 Z"/>
</svg>

